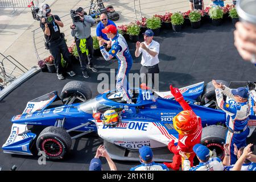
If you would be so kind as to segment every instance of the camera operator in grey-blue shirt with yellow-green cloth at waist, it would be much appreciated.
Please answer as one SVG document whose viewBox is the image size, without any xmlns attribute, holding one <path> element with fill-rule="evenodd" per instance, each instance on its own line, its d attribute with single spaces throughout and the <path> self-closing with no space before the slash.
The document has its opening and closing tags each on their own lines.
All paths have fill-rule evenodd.
<svg viewBox="0 0 256 182">
<path fill-rule="evenodd" d="M 93 72 L 98 71 L 92 63 L 93 39 L 90 36 L 90 26 L 95 22 L 92 16 L 86 15 L 82 7 L 79 7 L 76 11 L 71 10 L 71 17 L 73 19 L 73 24 L 70 26 L 72 29 L 71 35 L 75 37 L 82 76 L 88 78 L 87 64 Z"/>
</svg>

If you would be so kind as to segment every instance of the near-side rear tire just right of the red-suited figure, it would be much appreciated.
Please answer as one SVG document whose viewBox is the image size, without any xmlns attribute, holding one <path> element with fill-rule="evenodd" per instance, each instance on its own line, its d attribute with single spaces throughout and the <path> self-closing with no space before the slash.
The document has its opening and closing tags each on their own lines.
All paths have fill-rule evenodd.
<svg viewBox="0 0 256 182">
<path fill-rule="evenodd" d="M 226 127 L 221 125 L 210 125 L 203 128 L 201 144 L 204 144 L 213 151 L 213 154 L 220 158 L 224 158 L 224 144 L 226 140 Z"/>
</svg>

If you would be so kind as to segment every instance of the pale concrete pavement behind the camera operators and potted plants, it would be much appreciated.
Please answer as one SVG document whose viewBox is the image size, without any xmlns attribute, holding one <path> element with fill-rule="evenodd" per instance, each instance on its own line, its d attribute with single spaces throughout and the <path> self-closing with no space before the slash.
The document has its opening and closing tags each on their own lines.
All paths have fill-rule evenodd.
<svg viewBox="0 0 256 182">
<path fill-rule="evenodd" d="M 53 14 L 64 16 L 69 14 L 71 9 L 76 7 L 88 7 L 90 5 L 89 0 L 47 0 L 51 6 Z M 210 0 L 205 0 L 205 6 L 208 6 Z M 232 3 L 231 0 L 225 1 L 225 3 Z M 128 24 L 134 22 L 136 17 L 141 19 L 142 16 L 150 17 L 154 14 L 164 14 L 168 11 L 174 13 L 176 11 L 189 10 L 188 0 L 112 0 L 105 2 L 104 5 L 113 5 L 115 11 L 120 15 L 120 19 L 115 23 L 117 25 Z M 140 13 L 141 7 L 141 13 Z M 5 55 L 11 55 L 26 68 L 31 68 L 38 63 L 36 57 L 33 34 L 32 31 L 39 27 L 39 22 L 34 20 L 31 15 L 30 9 L 16 9 L 14 14 L 13 9 L 0 9 L 0 52 Z M 136 14 L 135 14 L 136 13 Z M 136 16 L 137 15 L 137 16 Z M 65 33 L 68 46 L 73 42 L 73 38 L 70 35 L 69 25 L 72 23 L 70 16 L 62 18 L 64 27 L 61 31 Z M 96 26 L 92 27 L 92 35 L 95 35 Z M 35 31 L 35 43 L 36 48 L 41 59 L 50 55 L 50 53 L 44 49 L 43 44 L 43 31 L 41 29 Z"/>
</svg>

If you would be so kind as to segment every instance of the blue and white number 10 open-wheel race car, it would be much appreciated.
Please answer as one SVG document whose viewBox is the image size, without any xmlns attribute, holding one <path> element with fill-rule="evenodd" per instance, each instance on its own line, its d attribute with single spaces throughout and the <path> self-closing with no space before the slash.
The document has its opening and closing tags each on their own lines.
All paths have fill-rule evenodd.
<svg viewBox="0 0 256 182">
<path fill-rule="evenodd" d="M 228 82 L 223 82 L 229 85 Z M 167 144 L 177 142 L 178 133 L 172 119 L 182 108 L 174 100 L 170 91 L 158 92 L 150 88 L 133 88 L 132 101 L 126 104 L 122 94 L 114 90 L 92 97 L 92 91 L 85 82 L 68 82 L 60 97 L 57 92 L 47 93 L 27 103 L 22 114 L 15 115 L 11 122 L 11 134 L 3 144 L 3 152 L 10 154 L 32 155 L 32 146 L 46 158 L 63 159 L 71 150 L 72 139 L 88 133 L 97 133 L 104 140 L 110 157 L 116 160 L 138 160 L 138 149 L 150 146 L 156 162 L 171 162 Z M 211 82 L 204 82 L 180 88 L 184 99 L 193 111 L 201 117 L 203 135 L 201 143 L 224 157 L 223 144 L 226 134 L 226 114 L 217 108 L 215 92 Z M 255 93 L 255 90 L 254 90 Z M 255 99 L 251 96 L 250 99 Z M 232 102 L 226 98 L 227 102 Z M 254 102 L 253 102 L 254 103 Z M 119 113 L 119 122 L 115 126 L 100 122 L 94 113 L 104 113 L 114 109 Z M 44 126 L 37 134 L 28 130 L 28 126 Z M 251 108 L 248 122 L 250 134 L 256 127 L 256 117 Z M 71 131 L 77 134 L 71 136 Z"/>
</svg>

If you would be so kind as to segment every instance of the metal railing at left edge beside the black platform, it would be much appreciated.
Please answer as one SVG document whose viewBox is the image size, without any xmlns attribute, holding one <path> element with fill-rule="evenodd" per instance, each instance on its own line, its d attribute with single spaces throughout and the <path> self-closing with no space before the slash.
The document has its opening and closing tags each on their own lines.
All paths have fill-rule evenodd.
<svg viewBox="0 0 256 182">
<path fill-rule="evenodd" d="M 5 56 L 0 53 L 0 57 L 0 78 L 3 80 L 1 86 L 8 86 L 16 78 L 28 71 L 28 69 L 14 59 L 13 56 Z"/>
</svg>

